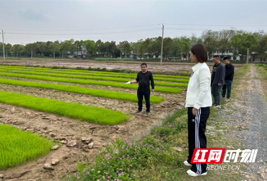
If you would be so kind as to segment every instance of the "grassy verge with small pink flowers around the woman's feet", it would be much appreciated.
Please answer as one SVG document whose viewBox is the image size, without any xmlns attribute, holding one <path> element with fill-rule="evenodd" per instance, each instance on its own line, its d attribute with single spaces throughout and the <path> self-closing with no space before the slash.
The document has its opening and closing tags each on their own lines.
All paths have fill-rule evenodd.
<svg viewBox="0 0 267 181">
<path fill-rule="evenodd" d="M 218 114 L 211 108 L 208 122 L 217 123 Z M 215 118 L 213 120 L 213 118 Z M 227 145 L 238 145 L 235 140 L 223 137 L 218 130 L 216 135 L 207 135 L 208 148 L 226 148 Z M 150 132 L 132 140 L 116 140 L 111 146 L 102 150 L 93 163 L 84 157 L 78 162 L 75 173 L 63 180 L 240 180 L 241 176 L 231 170 L 210 170 L 206 176 L 191 177 L 186 174 L 190 168 L 183 164 L 187 159 L 188 149 L 177 152 L 174 147 L 187 145 L 187 110 L 180 109 L 168 115 L 161 124 L 154 126 Z M 237 146 L 238 147 L 238 146 Z M 233 163 L 227 163 L 232 165 Z M 211 165 L 211 164 L 209 164 Z M 213 164 L 216 165 L 216 164 Z M 104 176 L 104 179 L 103 177 Z"/>
</svg>

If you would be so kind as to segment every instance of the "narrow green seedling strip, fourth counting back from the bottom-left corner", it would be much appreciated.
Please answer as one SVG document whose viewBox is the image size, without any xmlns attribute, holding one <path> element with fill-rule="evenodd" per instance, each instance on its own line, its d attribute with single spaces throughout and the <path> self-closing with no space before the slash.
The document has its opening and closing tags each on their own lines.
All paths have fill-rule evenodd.
<svg viewBox="0 0 267 181">
<path fill-rule="evenodd" d="M 26 74 L 14 74 L 14 73 L 0 73 L 0 76 L 7 77 L 20 77 L 28 79 L 37 79 L 45 81 L 55 81 L 55 82 L 67 82 L 67 83 L 76 83 L 76 84 L 90 84 L 90 85 L 100 85 L 100 86 L 111 86 L 111 87 L 120 87 L 125 89 L 137 89 L 137 84 L 124 84 L 117 82 L 104 82 L 104 81 L 92 81 L 92 80 L 82 80 L 82 79 L 68 79 L 68 78 L 56 78 L 49 76 L 35 76 L 35 75 L 26 75 Z M 174 93 L 178 94 L 183 91 L 180 88 L 171 88 L 171 87 L 156 87 L 156 92 L 165 92 L 165 93 Z"/>
</svg>

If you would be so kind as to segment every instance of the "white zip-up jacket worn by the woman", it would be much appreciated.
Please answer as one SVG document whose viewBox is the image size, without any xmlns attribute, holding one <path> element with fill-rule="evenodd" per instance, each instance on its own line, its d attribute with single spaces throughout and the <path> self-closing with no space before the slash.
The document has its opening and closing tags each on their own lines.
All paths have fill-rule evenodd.
<svg viewBox="0 0 267 181">
<path fill-rule="evenodd" d="M 211 75 L 206 63 L 198 63 L 192 67 L 187 87 L 185 107 L 209 107 L 212 105 L 210 83 Z"/>
</svg>

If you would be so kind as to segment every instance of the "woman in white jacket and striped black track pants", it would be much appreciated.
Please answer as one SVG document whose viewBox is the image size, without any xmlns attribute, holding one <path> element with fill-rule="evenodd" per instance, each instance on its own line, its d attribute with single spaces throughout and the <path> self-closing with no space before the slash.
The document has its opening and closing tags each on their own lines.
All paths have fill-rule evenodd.
<svg viewBox="0 0 267 181">
<path fill-rule="evenodd" d="M 190 58 L 194 65 L 193 74 L 188 83 L 186 104 L 188 108 L 188 160 L 184 164 L 191 166 L 187 173 L 191 176 L 206 175 L 206 163 L 193 163 L 195 148 L 206 148 L 206 122 L 209 117 L 209 107 L 212 105 L 210 91 L 210 71 L 207 62 L 207 51 L 203 44 L 198 43 L 190 48 Z M 192 162 L 191 162 L 192 159 Z"/>
</svg>

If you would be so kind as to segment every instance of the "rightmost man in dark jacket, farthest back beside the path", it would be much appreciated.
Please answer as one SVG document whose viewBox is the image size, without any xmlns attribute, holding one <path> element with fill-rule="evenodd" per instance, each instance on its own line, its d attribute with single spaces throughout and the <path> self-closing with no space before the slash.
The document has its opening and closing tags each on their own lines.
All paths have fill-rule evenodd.
<svg viewBox="0 0 267 181">
<path fill-rule="evenodd" d="M 223 85 L 222 97 L 225 98 L 226 90 L 227 90 L 227 100 L 230 99 L 231 96 L 231 87 L 234 78 L 235 67 L 230 63 L 229 57 L 224 57 L 225 64 L 225 84 Z"/>
</svg>

